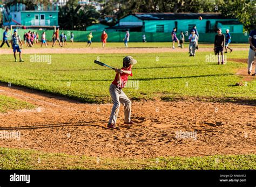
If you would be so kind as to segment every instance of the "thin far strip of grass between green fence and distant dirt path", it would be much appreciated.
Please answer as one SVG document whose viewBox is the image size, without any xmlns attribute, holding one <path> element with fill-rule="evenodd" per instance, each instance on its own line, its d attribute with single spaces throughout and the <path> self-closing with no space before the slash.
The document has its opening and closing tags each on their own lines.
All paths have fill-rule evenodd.
<svg viewBox="0 0 256 187">
<path fill-rule="evenodd" d="M 22 41 L 24 44 L 24 41 Z M 48 42 L 49 48 L 52 48 L 52 42 Z M 70 42 L 67 42 L 68 45 L 64 46 L 65 48 L 84 48 L 87 45 L 87 42 L 74 42 L 72 45 Z M 129 42 L 128 43 L 129 47 L 172 47 L 172 42 Z M 25 45 L 26 46 L 26 45 Z M 24 48 L 26 48 L 24 46 Z M 175 45 L 178 47 L 178 44 L 176 43 Z M 40 48 L 41 43 L 36 44 L 33 48 Z M 100 48 L 102 47 L 101 42 L 93 42 L 92 45 L 90 46 L 91 48 Z M 106 48 L 124 48 L 124 43 L 123 42 L 107 42 Z M 213 44 L 199 44 L 199 48 L 205 48 L 205 47 L 211 47 L 213 48 Z M 248 44 L 231 44 L 230 47 L 232 48 L 239 48 L 239 47 L 249 47 Z M 8 48 L 6 44 L 3 46 L 3 48 Z M 43 48 L 45 46 L 43 45 Z M 55 48 L 59 48 L 59 45 L 56 44 Z M 188 42 L 185 42 L 184 48 L 188 48 Z"/>
</svg>

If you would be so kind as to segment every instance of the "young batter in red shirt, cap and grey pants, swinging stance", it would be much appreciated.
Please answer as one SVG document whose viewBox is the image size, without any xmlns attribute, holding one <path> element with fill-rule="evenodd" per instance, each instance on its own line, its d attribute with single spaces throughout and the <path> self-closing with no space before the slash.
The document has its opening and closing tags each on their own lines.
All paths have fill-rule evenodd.
<svg viewBox="0 0 256 187">
<path fill-rule="evenodd" d="M 125 95 L 123 88 L 128 81 L 128 76 L 132 76 L 132 66 L 137 63 L 137 60 L 132 56 L 125 56 L 123 59 L 123 68 L 114 69 L 116 71 L 116 77 L 110 85 L 109 92 L 113 102 L 113 108 L 110 114 L 109 124 L 107 127 L 119 129 L 116 126 L 117 116 L 120 108 L 120 104 L 124 105 L 124 123 L 132 125 L 131 121 L 131 100 Z"/>
</svg>

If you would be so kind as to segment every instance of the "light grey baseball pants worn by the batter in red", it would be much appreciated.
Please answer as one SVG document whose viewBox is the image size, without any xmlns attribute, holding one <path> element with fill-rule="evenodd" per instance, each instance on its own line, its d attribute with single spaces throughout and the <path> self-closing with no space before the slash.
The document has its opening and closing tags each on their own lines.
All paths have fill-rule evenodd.
<svg viewBox="0 0 256 187">
<path fill-rule="evenodd" d="M 124 105 L 124 122 L 129 123 L 131 121 L 131 100 L 125 95 L 122 89 L 118 89 L 114 84 L 110 85 L 109 92 L 114 104 L 110 114 L 109 123 L 116 124 L 120 103 Z"/>
</svg>

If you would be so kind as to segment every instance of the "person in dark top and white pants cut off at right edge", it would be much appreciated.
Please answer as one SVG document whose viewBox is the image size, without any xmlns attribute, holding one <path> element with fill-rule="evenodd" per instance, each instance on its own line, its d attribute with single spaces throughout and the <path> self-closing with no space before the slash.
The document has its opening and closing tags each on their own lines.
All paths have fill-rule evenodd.
<svg viewBox="0 0 256 187">
<path fill-rule="evenodd" d="M 250 44 L 250 49 L 249 49 L 249 55 L 248 55 L 248 74 L 250 75 L 252 72 L 252 63 L 255 60 L 255 51 L 256 51 L 256 29 L 250 32 L 249 34 L 249 44 Z M 255 61 L 254 61 L 255 62 Z M 255 76 L 256 74 L 256 66 L 255 66 L 255 71 L 252 76 Z"/>
</svg>

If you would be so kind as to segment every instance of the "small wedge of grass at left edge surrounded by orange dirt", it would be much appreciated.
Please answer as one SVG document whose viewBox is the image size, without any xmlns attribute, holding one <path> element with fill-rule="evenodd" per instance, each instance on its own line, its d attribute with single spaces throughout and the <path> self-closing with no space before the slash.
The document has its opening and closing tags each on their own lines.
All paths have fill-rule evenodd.
<svg viewBox="0 0 256 187">
<path fill-rule="evenodd" d="M 22 100 L 0 95 L 0 113 L 11 110 L 33 109 L 33 105 Z"/>
</svg>

